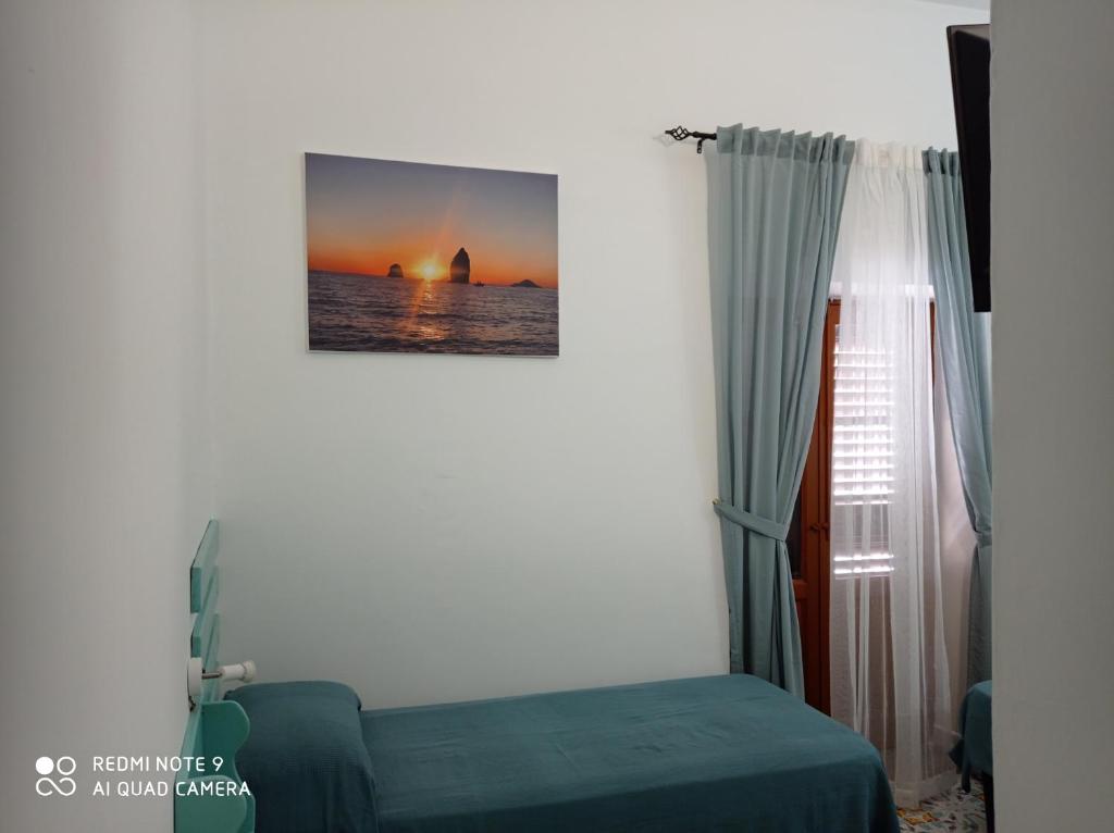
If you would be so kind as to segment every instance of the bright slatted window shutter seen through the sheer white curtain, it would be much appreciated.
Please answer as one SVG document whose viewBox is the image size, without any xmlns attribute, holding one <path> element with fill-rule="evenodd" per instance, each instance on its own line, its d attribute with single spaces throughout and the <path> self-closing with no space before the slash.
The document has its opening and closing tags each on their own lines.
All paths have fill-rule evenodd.
<svg viewBox="0 0 1114 833">
<path fill-rule="evenodd" d="M 856 513 L 848 551 L 832 552 L 836 576 L 893 571 L 889 504 L 893 493 L 893 374 L 883 350 L 840 344 L 836 329 L 832 503 Z"/>
</svg>

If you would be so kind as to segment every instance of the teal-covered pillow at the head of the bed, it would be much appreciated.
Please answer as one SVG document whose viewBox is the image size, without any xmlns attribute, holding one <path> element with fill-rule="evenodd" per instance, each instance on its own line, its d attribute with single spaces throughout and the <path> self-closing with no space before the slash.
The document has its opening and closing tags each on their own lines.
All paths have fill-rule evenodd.
<svg viewBox="0 0 1114 833">
<path fill-rule="evenodd" d="M 375 833 L 360 698 L 339 683 L 253 683 L 225 695 L 251 721 L 236 768 L 258 833 Z"/>
</svg>

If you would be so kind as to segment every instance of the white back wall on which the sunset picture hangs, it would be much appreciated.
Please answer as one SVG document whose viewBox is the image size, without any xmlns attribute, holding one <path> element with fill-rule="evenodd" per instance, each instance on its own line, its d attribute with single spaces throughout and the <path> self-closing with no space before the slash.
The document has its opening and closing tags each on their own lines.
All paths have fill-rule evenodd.
<svg viewBox="0 0 1114 833">
<path fill-rule="evenodd" d="M 370 705 L 726 667 L 703 161 L 954 145 L 932 3 L 211 2 L 225 651 Z M 557 360 L 305 351 L 302 153 L 560 175 Z"/>
</svg>

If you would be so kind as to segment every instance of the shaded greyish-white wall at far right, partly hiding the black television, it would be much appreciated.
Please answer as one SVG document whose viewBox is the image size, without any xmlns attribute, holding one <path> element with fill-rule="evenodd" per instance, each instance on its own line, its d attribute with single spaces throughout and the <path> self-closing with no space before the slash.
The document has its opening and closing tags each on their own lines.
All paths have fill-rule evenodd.
<svg viewBox="0 0 1114 833">
<path fill-rule="evenodd" d="M 994 743 L 1009 833 L 1110 825 L 1112 42 L 1107 0 L 995 3 Z"/>
</svg>

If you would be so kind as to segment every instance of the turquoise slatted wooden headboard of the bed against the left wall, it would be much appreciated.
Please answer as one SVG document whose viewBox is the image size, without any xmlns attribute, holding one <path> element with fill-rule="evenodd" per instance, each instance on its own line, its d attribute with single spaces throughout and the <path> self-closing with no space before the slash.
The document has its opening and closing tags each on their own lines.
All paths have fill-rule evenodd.
<svg viewBox="0 0 1114 833">
<path fill-rule="evenodd" d="M 189 567 L 189 611 L 194 614 L 189 656 L 199 658 L 206 670 L 219 665 L 218 548 L 219 529 L 211 520 Z M 174 785 L 175 833 L 253 833 L 255 800 L 246 794 L 236 772 L 236 751 L 247 733 L 244 709 L 221 699 L 221 680 L 204 680 L 201 694 L 192 698 L 182 742 L 183 758 L 193 758 L 194 764 L 183 767 Z"/>
</svg>

